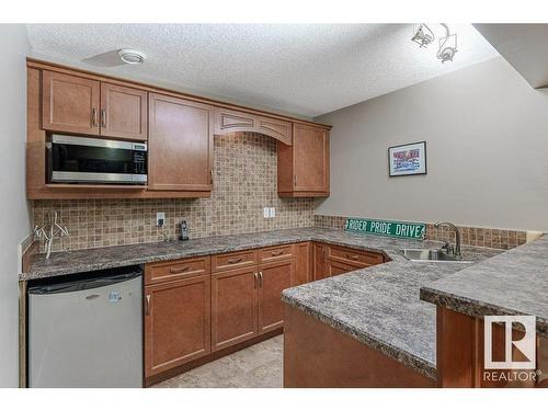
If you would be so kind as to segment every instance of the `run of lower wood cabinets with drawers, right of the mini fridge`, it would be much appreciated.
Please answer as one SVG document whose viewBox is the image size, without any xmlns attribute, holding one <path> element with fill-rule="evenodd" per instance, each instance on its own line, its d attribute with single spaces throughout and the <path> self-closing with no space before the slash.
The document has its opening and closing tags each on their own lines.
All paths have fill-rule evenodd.
<svg viewBox="0 0 548 411">
<path fill-rule="evenodd" d="M 299 242 L 146 264 L 145 377 L 162 379 L 274 334 L 284 327 L 284 289 L 383 261 L 381 253 Z"/>
</svg>

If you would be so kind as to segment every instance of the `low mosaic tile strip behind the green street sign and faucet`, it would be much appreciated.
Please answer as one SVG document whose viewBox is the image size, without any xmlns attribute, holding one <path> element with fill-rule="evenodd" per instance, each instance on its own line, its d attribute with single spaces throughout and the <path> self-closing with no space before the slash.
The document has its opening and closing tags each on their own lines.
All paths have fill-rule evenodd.
<svg viewBox="0 0 548 411">
<path fill-rule="evenodd" d="M 342 229 L 346 217 L 340 216 L 315 216 L 315 226 L 323 228 Z M 526 231 L 499 230 L 479 227 L 458 227 L 463 246 L 488 247 L 491 249 L 510 250 L 514 247 L 525 244 Z M 447 228 L 435 228 L 433 224 L 426 224 L 426 240 L 455 241 L 454 232 Z"/>
</svg>

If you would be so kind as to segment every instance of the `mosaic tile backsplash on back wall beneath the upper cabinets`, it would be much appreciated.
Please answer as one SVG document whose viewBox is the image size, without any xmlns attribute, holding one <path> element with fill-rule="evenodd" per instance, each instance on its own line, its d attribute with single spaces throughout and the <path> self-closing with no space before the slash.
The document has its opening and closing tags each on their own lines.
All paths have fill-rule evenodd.
<svg viewBox="0 0 548 411">
<path fill-rule="evenodd" d="M 69 237 L 56 239 L 54 251 L 161 241 L 179 236 L 186 219 L 189 237 L 312 227 L 312 198 L 277 195 L 276 142 L 253 133 L 215 137 L 215 183 L 209 198 L 34 201 L 34 225 L 58 212 Z M 263 218 L 263 207 L 275 207 Z M 163 228 L 156 213 L 165 213 Z"/>
</svg>

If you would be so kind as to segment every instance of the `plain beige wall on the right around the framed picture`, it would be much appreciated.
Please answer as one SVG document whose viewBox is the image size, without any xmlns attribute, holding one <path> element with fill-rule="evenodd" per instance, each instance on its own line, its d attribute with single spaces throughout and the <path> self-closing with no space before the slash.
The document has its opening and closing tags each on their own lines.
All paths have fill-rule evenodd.
<svg viewBox="0 0 548 411">
<path fill-rule="evenodd" d="M 318 215 L 548 231 L 548 90 L 501 57 L 316 119 L 333 125 Z M 421 140 L 427 175 L 389 179 L 387 148 Z"/>
</svg>

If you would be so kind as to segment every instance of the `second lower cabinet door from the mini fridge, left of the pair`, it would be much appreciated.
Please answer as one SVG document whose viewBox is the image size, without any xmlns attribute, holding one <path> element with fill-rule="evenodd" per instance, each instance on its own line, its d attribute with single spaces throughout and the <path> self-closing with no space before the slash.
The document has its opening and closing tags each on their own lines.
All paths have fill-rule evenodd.
<svg viewBox="0 0 548 411">
<path fill-rule="evenodd" d="M 212 279 L 212 350 L 255 336 L 256 265 L 213 274 Z"/>
</svg>

